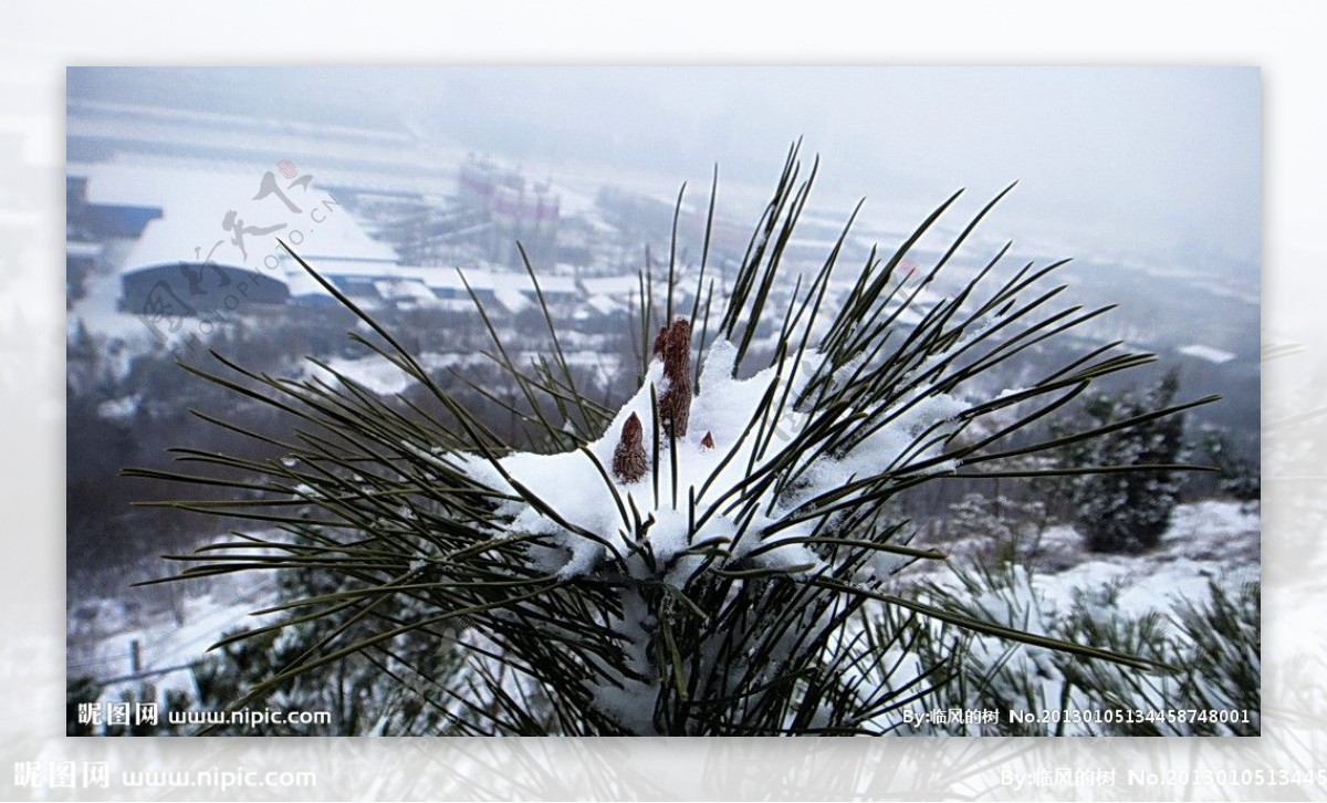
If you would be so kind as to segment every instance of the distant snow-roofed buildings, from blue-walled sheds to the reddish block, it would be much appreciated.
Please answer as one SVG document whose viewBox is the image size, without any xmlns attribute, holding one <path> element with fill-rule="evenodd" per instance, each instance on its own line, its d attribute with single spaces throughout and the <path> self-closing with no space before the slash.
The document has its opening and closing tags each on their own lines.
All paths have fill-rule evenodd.
<svg viewBox="0 0 1327 803">
<path fill-rule="evenodd" d="M 516 242 L 531 259 L 547 255 L 557 224 L 557 198 L 548 187 L 525 190 L 510 170 L 471 161 L 460 173 L 458 191 L 462 206 L 487 210 L 483 236 L 495 256 L 503 255 L 500 243 L 510 243 L 514 254 L 507 256 L 518 263 Z M 583 281 L 565 264 L 541 272 L 537 292 L 523 265 L 502 259 L 475 259 L 478 267 L 463 269 L 410 264 L 387 238 L 368 234 L 358 210 L 346 208 L 342 199 L 353 202 L 353 191 L 333 195 L 309 182 L 283 190 L 277 203 L 263 203 L 275 195 L 264 196 L 263 187 L 289 183 L 273 171 L 244 177 L 194 165 L 72 165 L 70 284 L 93 271 L 107 251 L 119 250 L 121 312 L 192 316 L 236 304 L 338 304 L 289 252 L 273 247 L 280 238 L 337 291 L 368 308 L 468 311 L 478 299 L 520 312 L 543 295 L 552 305 L 589 300 L 591 309 L 608 313 L 625 308 L 626 297 L 638 292 L 634 276 Z M 381 235 L 381 214 L 370 211 L 369 223 Z M 405 242 L 415 235 L 397 232 Z M 77 296 L 73 287 L 70 295 Z"/>
</svg>

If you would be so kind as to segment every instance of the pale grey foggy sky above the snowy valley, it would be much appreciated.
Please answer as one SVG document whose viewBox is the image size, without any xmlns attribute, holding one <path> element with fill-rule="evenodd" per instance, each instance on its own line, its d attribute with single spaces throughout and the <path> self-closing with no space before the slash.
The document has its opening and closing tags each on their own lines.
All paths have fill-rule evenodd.
<svg viewBox="0 0 1327 803">
<path fill-rule="evenodd" d="M 1078 250 L 1257 264 L 1255 68 L 200 68 L 72 70 L 70 94 L 415 126 L 552 166 L 772 184 L 788 143 L 831 196 L 958 187 Z M 914 220 L 905 220 L 913 223 Z"/>
</svg>

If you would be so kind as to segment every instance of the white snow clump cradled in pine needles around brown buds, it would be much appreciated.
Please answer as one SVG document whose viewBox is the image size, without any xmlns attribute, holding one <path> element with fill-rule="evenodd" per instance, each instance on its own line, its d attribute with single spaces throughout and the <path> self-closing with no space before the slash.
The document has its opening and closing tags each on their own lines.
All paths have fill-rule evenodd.
<svg viewBox="0 0 1327 803">
<path fill-rule="evenodd" d="M 813 520 L 764 531 L 792 506 L 853 478 L 934 458 L 940 454 L 942 435 L 949 431 L 943 422 L 967 409 L 965 402 L 943 394 L 904 398 L 896 413 L 884 418 L 874 413 L 882 426 L 851 445 L 844 454 L 824 454 L 815 463 L 800 466 L 803 476 L 794 491 L 778 499 L 771 492 L 754 511 L 743 512 L 734 510 L 731 503 L 736 496 L 729 491 L 759 474 L 782 450 L 794 445 L 809 423 L 808 415 L 794 410 L 791 401 L 778 414 L 778 405 L 762 411 L 762 400 L 778 401 L 784 396 L 796 400 L 823 357 L 807 353 L 795 368 L 790 360 L 748 378 L 735 378 L 736 353 L 731 342 L 721 340 L 705 354 L 701 390 L 691 401 L 686 434 L 675 442 L 662 433 L 658 435 L 657 475 L 654 461 L 638 482 L 618 480 L 612 476 L 610 466 L 622 427 L 632 415 L 645 422 L 646 451 L 654 450 L 652 393 L 660 398 L 667 382 L 660 360 L 650 364 L 644 384 L 617 411 L 606 431 L 584 451 L 514 454 L 502 458 L 498 466 L 472 459 L 466 462 L 466 470 L 514 498 L 543 500 L 543 504 L 512 500 L 499 512 L 508 518 L 510 532 L 552 536 L 563 548 L 564 563 L 557 573 L 564 579 L 591 573 L 604 561 L 622 561 L 648 547 L 657 561 L 648 571 L 652 579 L 685 581 L 689 573 L 677 571 L 673 561 L 693 544 L 715 540 L 727 544 L 731 561 L 746 559 L 754 567 L 805 569 L 820 563 L 799 543 L 812 532 Z M 928 364 L 921 369 L 929 368 Z M 841 415 L 860 414 L 845 410 Z M 702 443 L 706 437 L 713 447 Z M 918 442 L 925 442 L 925 449 L 917 449 Z M 941 465 L 934 470 L 950 467 Z M 641 522 L 633 510 L 640 511 Z M 596 538 L 587 538 L 585 532 Z M 641 565 L 637 571 L 646 569 Z"/>
</svg>

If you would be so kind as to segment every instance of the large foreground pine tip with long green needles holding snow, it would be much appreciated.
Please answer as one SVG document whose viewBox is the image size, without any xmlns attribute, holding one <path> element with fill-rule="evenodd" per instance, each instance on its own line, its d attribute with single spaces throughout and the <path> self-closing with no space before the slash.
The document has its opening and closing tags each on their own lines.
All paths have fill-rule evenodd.
<svg viewBox="0 0 1327 803">
<path fill-rule="evenodd" d="M 865 264 L 841 265 L 849 219 L 823 265 L 788 277 L 784 250 L 811 188 L 800 177 L 794 147 L 726 297 L 715 295 L 707 247 L 694 283 L 686 279 L 689 311 L 674 308 L 675 260 L 662 293 L 642 275 L 640 385 L 620 403 L 579 386 L 541 295 L 552 350 L 528 366 L 475 296 L 490 356 L 522 397 L 490 401 L 537 433 L 539 451 L 518 451 L 484 426 L 312 265 L 372 332 L 352 337 L 426 401 L 384 398 L 328 365 L 299 380 L 222 356 L 224 377 L 192 369 L 292 419 L 281 439 L 222 423 L 279 445 L 280 458 L 186 450 L 215 471 L 178 479 L 236 496 L 195 507 L 299 538 L 215 546 L 190 556 L 198 564 L 180 577 L 313 569 L 334 576 L 337 591 L 285 603 L 285 622 L 354 625 L 330 628 L 234 705 L 348 656 L 391 658 L 419 637 L 455 640 L 464 653 L 446 674 L 394 665 L 459 733 L 886 733 L 892 711 L 943 678 L 913 646 L 933 621 L 1144 665 L 889 593 L 893 573 L 945 556 L 910 547 L 908 522 L 888 503 L 947 476 L 1027 476 L 1016 458 L 1115 429 L 1011 438 L 1152 356 L 1088 349 L 1030 366 L 1038 378 L 1026 388 L 993 392 L 981 381 L 990 372 L 1105 309 L 1055 309 L 1064 287 L 1044 283 L 1063 263 L 1006 271 L 1010 246 L 965 280 L 943 281 L 999 198 L 917 276 L 900 265 L 926 259 L 913 247 L 958 194 L 888 257 L 872 251 Z M 711 220 L 713 203 L 711 194 Z M 845 269 L 851 279 L 833 281 Z M 924 293 L 938 300 L 920 307 Z M 878 608 L 894 619 L 868 616 Z"/>
</svg>

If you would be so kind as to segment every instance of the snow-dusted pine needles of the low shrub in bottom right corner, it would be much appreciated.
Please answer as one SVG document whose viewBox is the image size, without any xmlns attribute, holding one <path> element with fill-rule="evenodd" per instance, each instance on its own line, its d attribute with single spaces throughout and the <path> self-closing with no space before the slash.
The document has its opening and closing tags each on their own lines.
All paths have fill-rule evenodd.
<svg viewBox="0 0 1327 803">
<path fill-rule="evenodd" d="M 1208 599 L 1176 599 L 1168 611 L 1131 613 L 1119 587 L 1074 589 L 1056 607 L 1031 572 L 974 567 L 957 584 L 928 584 L 925 597 L 971 617 L 1050 638 L 1136 656 L 1145 669 L 1084 660 L 1062 650 L 1010 644 L 933 625 L 917 640 L 922 665 L 953 680 L 918 698 L 926 710 L 995 710 L 994 723 L 921 723 L 951 735 L 1258 735 L 1261 727 L 1261 589 L 1209 580 Z M 1031 713 L 1023 721 L 1010 711 Z M 1048 717 L 1040 717 L 1042 713 Z M 914 717 L 916 719 L 916 717 Z"/>
</svg>

